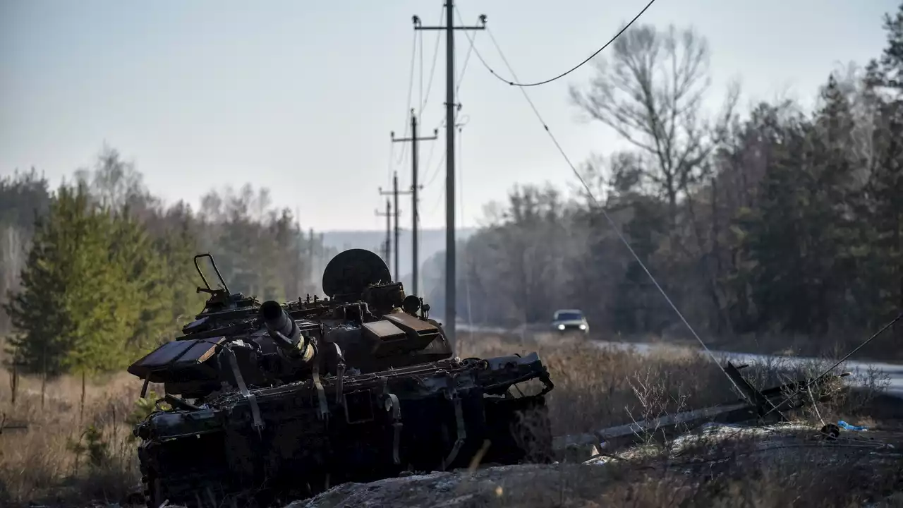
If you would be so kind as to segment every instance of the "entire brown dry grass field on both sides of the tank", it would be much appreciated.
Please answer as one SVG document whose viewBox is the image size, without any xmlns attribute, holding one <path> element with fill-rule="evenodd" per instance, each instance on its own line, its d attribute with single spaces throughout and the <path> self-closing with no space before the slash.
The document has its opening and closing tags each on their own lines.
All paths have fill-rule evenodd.
<svg viewBox="0 0 903 508">
<path fill-rule="evenodd" d="M 541 354 L 555 383 L 549 406 L 556 435 L 737 399 L 718 367 L 690 350 L 641 355 L 600 349 L 580 340 L 461 334 L 459 356 L 530 351 Z M 787 370 L 776 362 L 744 372 L 763 387 L 811 375 L 823 367 L 813 364 Z M 49 381 L 42 403 L 41 381 L 20 378 L 13 404 L 9 372 L 0 374 L 0 419 L 5 418 L 6 426 L 27 426 L 0 432 L 0 505 L 128 504 L 128 495 L 139 482 L 137 443 L 131 438 L 129 421 L 135 418 L 140 382 L 126 373 L 89 381 L 82 410 L 80 379 Z M 863 435 L 895 439 L 903 421 L 903 402 L 887 402 L 881 396 L 880 377 L 870 376 L 867 384 L 864 390 L 840 390 L 832 402 L 819 404 L 817 412 L 808 410 L 797 417 L 809 422 L 846 419 L 869 425 Z M 903 446 L 901 441 L 894 443 Z M 645 456 L 605 466 L 562 463 L 479 470 L 455 476 L 449 492 L 434 485 L 424 485 L 420 492 L 415 482 L 409 483 L 396 497 L 386 494 L 392 499 L 386 505 L 436 505 L 441 494 L 448 506 L 461 507 L 862 506 L 868 502 L 903 506 L 892 497 L 903 489 L 903 456 L 892 451 L 876 455 L 874 447 L 797 447 L 782 454 L 781 460 L 771 460 L 757 457 L 740 438 L 684 450 L 682 456 L 666 448 L 650 443 L 651 451 Z M 890 459 L 885 459 L 888 454 Z M 352 486 L 336 491 L 340 494 Z M 318 498 L 316 505 L 366 505 L 342 504 L 333 497 Z"/>
</svg>

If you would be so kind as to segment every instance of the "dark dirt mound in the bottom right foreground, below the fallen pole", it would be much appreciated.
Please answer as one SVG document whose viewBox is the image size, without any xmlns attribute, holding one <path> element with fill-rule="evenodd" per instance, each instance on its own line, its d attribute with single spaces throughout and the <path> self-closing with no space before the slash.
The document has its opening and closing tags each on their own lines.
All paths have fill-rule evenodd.
<svg viewBox="0 0 903 508">
<path fill-rule="evenodd" d="M 605 450 L 602 450 L 605 453 Z M 805 424 L 711 425 L 666 449 L 578 464 L 498 466 L 342 484 L 288 508 L 545 506 L 903 506 L 903 431 L 824 437 Z M 805 494 L 805 497 L 804 497 Z"/>
</svg>

